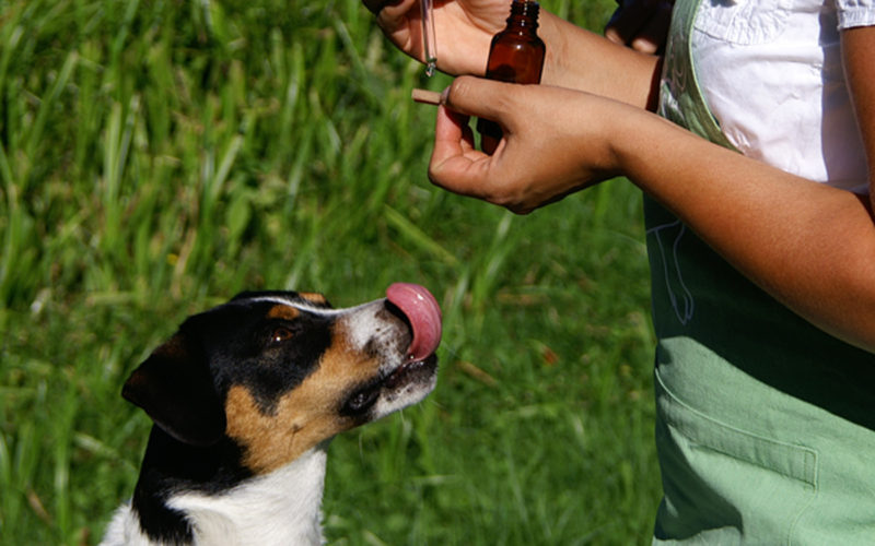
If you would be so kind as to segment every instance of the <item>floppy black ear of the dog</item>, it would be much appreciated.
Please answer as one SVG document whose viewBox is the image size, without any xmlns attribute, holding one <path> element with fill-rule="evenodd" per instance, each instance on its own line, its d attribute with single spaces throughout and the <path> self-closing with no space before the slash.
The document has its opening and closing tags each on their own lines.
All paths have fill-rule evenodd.
<svg viewBox="0 0 875 546">
<path fill-rule="evenodd" d="M 207 357 L 184 333 L 176 333 L 133 370 L 121 395 L 184 443 L 211 446 L 225 431 L 225 412 Z"/>
</svg>

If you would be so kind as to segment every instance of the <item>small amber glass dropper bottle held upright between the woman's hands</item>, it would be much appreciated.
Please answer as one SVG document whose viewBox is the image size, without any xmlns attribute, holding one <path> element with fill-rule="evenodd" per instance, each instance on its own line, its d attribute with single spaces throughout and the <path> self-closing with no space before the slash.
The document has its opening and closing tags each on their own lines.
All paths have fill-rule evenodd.
<svg viewBox="0 0 875 546">
<path fill-rule="evenodd" d="M 538 37 L 538 2 L 513 0 L 508 26 L 492 38 L 486 76 L 511 83 L 539 83 L 547 48 Z M 480 149 L 491 154 L 501 140 L 501 128 L 487 119 L 477 120 Z"/>
</svg>

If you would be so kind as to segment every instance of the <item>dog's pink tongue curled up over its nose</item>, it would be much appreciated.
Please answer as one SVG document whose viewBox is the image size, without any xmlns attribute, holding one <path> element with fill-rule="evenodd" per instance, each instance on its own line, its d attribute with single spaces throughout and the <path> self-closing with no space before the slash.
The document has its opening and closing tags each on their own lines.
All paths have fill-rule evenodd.
<svg viewBox="0 0 875 546">
<path fill-rule="evenodd" d="M 413 341 L 407 349 L 412 360 L 432 355 L 441 343 L 441 307 L 429 290 L 418 284 L 394 283 L 386 288 L 386 298 L 401 312 L 413 329 Z"/>
</svg>

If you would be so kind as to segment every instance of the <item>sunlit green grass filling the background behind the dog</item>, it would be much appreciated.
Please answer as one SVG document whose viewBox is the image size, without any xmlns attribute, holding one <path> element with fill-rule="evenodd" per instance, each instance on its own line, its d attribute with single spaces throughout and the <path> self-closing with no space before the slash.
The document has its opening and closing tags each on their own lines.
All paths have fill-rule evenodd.
<svg viewBox="0 0 875 546">
<path fill-rule="evenodd" d="M 440 382 L 334 441 L 329 544 L 650 541 L 640 195 L 433 188 L 409 93 L 447 82 L 357 0 L 0 0 L 0 544 L 100 539 L 150 427 L 120 385 L 184 317 L 395 281 L 442 304 Z"/>
</svg>

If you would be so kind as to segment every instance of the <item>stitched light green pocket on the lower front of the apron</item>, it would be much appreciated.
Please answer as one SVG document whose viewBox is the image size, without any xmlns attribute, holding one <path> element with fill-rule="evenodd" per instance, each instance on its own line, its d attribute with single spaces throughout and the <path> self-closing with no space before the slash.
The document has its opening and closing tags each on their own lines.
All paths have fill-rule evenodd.
<svg viewBox="0 0 875 546">
<path fill-rule="evenodd" d="M 817 492 L 817 452 L 705 415 L 655 378 L 665 497 L 654 542 L 791 544 Z"/>
</svg>

